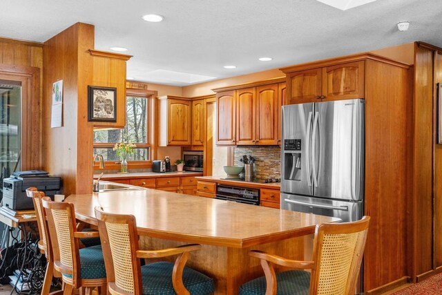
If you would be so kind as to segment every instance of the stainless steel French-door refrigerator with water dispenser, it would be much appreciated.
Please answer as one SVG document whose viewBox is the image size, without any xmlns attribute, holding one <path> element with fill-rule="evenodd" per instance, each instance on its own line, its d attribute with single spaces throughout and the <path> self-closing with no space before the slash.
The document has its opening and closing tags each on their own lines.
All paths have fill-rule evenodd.
<svg viewBox="0 0 442 295">
<path fill-rule="evenodd" d="M 281 209 L 363 216 L 364 99 L 282 107 Z"/>
</svg>

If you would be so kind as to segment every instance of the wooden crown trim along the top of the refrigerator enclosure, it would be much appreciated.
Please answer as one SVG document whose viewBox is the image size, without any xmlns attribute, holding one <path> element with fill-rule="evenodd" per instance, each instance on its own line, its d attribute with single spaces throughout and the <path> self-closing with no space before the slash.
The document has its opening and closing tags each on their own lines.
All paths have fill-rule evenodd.
<svg viewBox="0 0 442 295">
<path fill-rule="evenodd" d="M 300 70 L 309 70 L 311 68 L 323 68 L 325 66 L 331 66 L 336 64 L 347 64 L 353 61 L 363 61 L 366 59 L 371 59 L 374 61 L 381 61 L 385 64 L 391 64 L 393 66 L 399 66 L 401 68 L 410 68 L 410 64 L 405 64 L 399 61 L 394 61 L 392 59 L 387 59 L 381 55 L 374 55 L 373 53 L 359 53 L 356 55 L 347 55 L 345 57 L 333 57 L 330 59 L 323 59 L 320 61 L 313 61 L 305 64 L 298 64 L 296 66 L 287 66 L 285 68 L 280 68 L 283 73 L 293 73 Z"/>
</svg>

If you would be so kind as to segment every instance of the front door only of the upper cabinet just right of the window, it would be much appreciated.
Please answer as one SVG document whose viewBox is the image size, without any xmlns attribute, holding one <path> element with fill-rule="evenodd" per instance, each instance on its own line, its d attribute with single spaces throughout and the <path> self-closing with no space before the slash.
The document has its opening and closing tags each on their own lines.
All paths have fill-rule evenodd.
<svg viewBox="0 0 442 295">
<path fill-rule="evenodd" d="M 191 145 L 191 102 L 168 99 L 168 145 Z"/>
</svg>

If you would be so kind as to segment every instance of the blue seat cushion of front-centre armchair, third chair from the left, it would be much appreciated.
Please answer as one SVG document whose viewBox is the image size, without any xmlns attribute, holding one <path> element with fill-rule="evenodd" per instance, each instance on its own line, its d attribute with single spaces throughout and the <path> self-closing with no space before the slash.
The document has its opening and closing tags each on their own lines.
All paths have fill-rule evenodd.
<svg viewBox="0 0 442 295">
<path fill-rule="evenodd" d="M 142 266 L 143 295 L 175 295 L 172 285 L 172 271 L 173 263 L 169 262 Z M 182 280 L 192 295 L 211 294 L 215 288 L 212 278 L 189 267 L 184 267 Z"/>
</svg>

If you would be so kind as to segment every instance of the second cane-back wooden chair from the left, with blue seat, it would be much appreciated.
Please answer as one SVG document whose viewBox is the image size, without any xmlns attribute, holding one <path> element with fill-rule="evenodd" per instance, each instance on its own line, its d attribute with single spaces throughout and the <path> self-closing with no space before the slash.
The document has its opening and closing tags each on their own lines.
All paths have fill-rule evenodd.
<svg viewBox="0 0 442 295">
<path fill-rule="evenodd" d="M 54 268 L 62 274 L 64 294 L 83 288 L 85 294 L 98 287 L 106 294 L 106 271 L 102 247 L 79 249 L 79 238 L 99 236 L 97 231 L 77 231 L 74 205 L 69 202 L 52 202 L 41 199 L 48 218 L 49 236 L 52 242 Z"/>
</svg>

